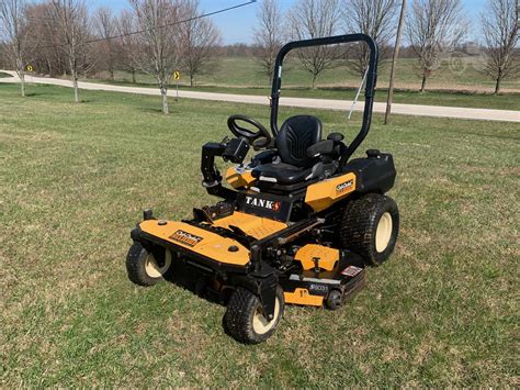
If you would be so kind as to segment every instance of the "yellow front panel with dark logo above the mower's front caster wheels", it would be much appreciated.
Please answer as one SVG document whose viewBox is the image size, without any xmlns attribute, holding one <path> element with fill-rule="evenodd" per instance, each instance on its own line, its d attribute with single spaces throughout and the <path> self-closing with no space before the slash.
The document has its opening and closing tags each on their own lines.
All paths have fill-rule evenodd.
<svg viewBox="0 0 520 390">
<path fill-rule="evenodd" d="M 222 264 L 246 266 L 249 263 L 249 250 L 239 242 L 184 222 L 168 221 L 160 225 L 156 220 L 148 220 L 139 227 L 149 235 Z"/>
</svg>

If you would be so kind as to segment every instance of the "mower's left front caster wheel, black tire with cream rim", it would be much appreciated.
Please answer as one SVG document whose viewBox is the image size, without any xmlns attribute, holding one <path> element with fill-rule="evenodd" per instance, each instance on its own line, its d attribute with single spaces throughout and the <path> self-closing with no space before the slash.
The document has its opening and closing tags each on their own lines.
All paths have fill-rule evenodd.
<svg viewBox="0 0 520 390">
<path fill-rule="evenodd" d="M 159 259 L 162 266 L 157 263 Z M 154 247 L 149 253 L 143 245 L 135 242 L 126 255 L 128 279 L 138 286 L 154 286 L 162 280 L 171 268 L 171 253 L 161 247 Z"/>
</svg>

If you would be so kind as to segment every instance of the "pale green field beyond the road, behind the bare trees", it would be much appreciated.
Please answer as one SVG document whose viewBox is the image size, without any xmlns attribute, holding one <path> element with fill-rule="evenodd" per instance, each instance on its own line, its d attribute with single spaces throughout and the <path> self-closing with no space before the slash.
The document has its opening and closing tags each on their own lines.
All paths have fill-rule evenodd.
<svg viewBox="0 0 520 390">
<path fill-rule="evenodd" d="M 453 90 L 475 90 L 493 92 L 495 81 L 486 77 L 479 69 L 482 63 L 478 58 L 468 57 L 463 62 L 464 67 L 454 67 L 450 60 L 441 62 L 439 69 L 431 79 L 428 80 L 427 89 L 453 89 Z M 287 59 L 283 68 L 283 83 L 287 87 L 310 87 L 310 74 L 302 68 L 297 59 Z M 387 87 L 389 77 L 388 62 L 382 62 L 378 68 L 378 86 Z M 189 77 L 185 71 L 181 71 L 181 83 L 188 85 Z M 115 78 L 120 80 L 131 80 L 127 73 L 116 71 Z M 147 75 L 137 75 L 137 82 L 155 83 L 155 79 Z M 259 60 L 253 57 L 222 57 L 215 59 L 205 69 L 205 74 L 196 79 L 199 86 L 217 87 L 248 87 L 265 88 L 271 80 L 262 73 Z M 358 87 L 361 76 L 352 73 L 350 65 L 338 63 L 331 69 L 325 70 L 318 76 L 318 87 Z M 414 58 L 402 58 L 398 60 L 396 73 L 396 87 L 419 90 L 420 77 L 417 73 L 417 60 Z M 502 82 L 505 91 L 507 89 L 520 89 L 520 79 L 509 78 Z"/>
</svg>

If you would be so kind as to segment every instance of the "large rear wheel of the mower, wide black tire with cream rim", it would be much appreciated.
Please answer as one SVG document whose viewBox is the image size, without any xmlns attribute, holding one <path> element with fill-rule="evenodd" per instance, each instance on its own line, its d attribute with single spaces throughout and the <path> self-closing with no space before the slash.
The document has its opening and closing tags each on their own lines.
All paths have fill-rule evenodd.
<svg viewBox="0 0 520 390">
<path fill-rule="evenodd" d="M 378 266 L 394 250 L 399 232 L 399 211 L 392 198 L 369 193 L 343 209 L 340 243 L 362 256 L 366 265 Z"/>
</svg>

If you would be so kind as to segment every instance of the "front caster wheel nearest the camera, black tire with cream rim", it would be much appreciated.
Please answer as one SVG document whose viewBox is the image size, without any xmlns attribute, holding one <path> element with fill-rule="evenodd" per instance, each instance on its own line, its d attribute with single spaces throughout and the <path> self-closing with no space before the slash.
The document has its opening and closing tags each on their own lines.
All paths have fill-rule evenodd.
<svg viewBox="0 0 520 390">
<path fill-rule="evenodd" d="M 268 323 L 258 323 L 256 315 L 261 314 L 262 305 L 260 299 L 251 291 L 238 287 L 231 294 L 224 315 L 224 326 L 226 332 L 236 341 L 244 344 L 258 344 L 268 339 L 276 330 L 283 315 L 285 300 L 283 291 L 276 288 L 276 307 L 274 319 Z"/>
</svg>

